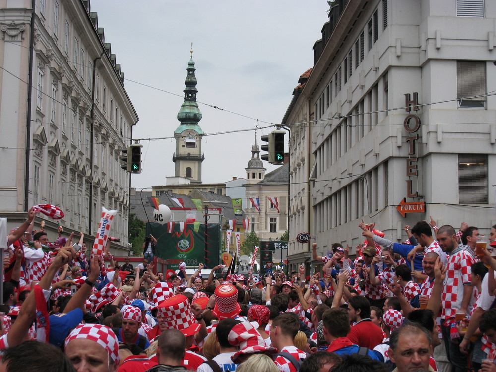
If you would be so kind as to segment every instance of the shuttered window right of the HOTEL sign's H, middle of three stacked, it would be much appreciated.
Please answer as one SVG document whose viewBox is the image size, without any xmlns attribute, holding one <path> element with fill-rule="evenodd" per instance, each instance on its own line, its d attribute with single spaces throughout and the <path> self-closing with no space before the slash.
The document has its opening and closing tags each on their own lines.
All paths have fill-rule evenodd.
<svg viewBox="0 0 496 372">
<path fill-rule="evenodd" d="M 486 106 L 486 61 L 456 61 L 459 107 Z"/>
</svg>

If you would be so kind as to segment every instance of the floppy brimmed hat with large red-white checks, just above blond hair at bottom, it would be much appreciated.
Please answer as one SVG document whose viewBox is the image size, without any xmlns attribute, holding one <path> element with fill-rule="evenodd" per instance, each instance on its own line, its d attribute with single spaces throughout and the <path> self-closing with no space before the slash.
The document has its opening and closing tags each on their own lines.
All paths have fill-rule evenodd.
<svg viewBox="0 0 496 372">
<path fill-rule="evenodd" d="M 234 363 L 240 363 L 239 358 L 246 354 L 264 353 L 276 354 L 277 349 L 267 346 L 265 340 L 255 329 L 253 324 L 243 322 L 236 324 L 227 337 L 229 343 L 233 346 L 239 346 L 240 351 L 236 352 L 231 359 Z"/>
</svg>

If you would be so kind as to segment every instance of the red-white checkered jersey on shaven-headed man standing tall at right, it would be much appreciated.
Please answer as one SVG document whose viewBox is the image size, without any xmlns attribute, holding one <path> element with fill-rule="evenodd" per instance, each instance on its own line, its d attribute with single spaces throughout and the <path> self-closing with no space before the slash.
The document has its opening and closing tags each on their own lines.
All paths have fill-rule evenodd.
<svg viewBox="0 0 496 372">
<path fill-rule="evenodd" d="M 470 283 L 470 266 L 473 263 L 474 257 L 465 249 L 449 257 L 441 295 L 442 319 L 454 317 L 456 310 L 460 309 L 463 284 Z"/>
</svg>

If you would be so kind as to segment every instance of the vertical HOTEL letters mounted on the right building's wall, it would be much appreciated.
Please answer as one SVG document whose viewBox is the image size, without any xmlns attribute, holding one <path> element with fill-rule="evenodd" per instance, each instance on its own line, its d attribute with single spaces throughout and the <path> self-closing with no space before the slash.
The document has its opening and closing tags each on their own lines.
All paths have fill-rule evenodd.
<svg viewBox="0 0 496 372">
<path fill-rule="evenodd" d="M 417 197 L 419 192 L 417 191 L 417 176 L 419 175 L 418 168 L 418 157 L 417 157 L 417 140 L 419 139 L 419 134 L 417 133 L 420 129 L 420 118 L 417 115 L 411 113 L 411 111 L 419 111 L 419 94 L 417 92 L 413 93 L 413 99 L 410 93 L 405 94 L 405 110 L 410 113 L 403 121 L 403 127 L 407 131 L 406 143 L 409 145 L 408 158 L 406 159 L 406 185 L 407 185 L 407 197 Z"/>
</svg>

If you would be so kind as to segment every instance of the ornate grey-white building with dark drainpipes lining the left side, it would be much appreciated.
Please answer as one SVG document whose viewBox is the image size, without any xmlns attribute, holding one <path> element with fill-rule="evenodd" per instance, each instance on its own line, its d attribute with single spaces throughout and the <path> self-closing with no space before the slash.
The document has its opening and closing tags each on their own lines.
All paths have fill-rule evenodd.
<svg viewBox="0 0 496 372">
<path fill-rule="evenodd" d="M 0 214 L 16 226 L 31 205 L 55 204 L 65 231 L 90 242 L 101 207 L 115 209 L 115 248 L 128 249 L 130 178 L 119 157 L 138 117 L 97 14 L 88 0 L 0 8 Z M 57 224 L 46 229 L 52 239 Z"/>
</svg>

